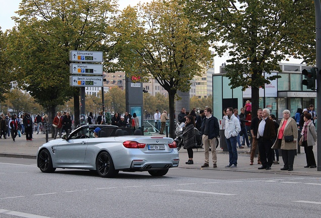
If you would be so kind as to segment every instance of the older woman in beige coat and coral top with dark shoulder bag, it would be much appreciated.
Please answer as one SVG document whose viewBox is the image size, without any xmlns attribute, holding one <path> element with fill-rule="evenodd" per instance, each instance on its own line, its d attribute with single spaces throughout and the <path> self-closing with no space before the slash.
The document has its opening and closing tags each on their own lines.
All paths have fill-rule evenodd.
<svg viewBox="0 0 321 218">
<path fill-rule="evenodd" d="M 277 140 L 272 149 L 281 148 L 284 166 L 281 170 L 293 171 L 294 156 L 297 149 L 298 128 L 296 121 L 291 118 L 289 110 L 283 111 L 283 119 L 281 120 L 278 130 Z"/>
</svg>

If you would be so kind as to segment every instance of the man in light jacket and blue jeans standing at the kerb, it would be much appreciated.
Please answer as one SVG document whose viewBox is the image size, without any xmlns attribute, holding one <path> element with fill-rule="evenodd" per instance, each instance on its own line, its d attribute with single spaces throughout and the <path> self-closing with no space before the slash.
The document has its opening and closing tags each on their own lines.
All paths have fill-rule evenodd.
<svg viewBox="0 0 321 218">
<path fill-rule="evenodd" d="M 229 165 L 226 168 L 237 167 L 237 150 L 236 150 L 236 137 L 241 131 L 241 125 L 239 119 L 233 114 L 233 108 L 228 107 L 226 110 L 227 117 L 225 118 L 225 138 L 226 144 L 229 150 Z"/>
</svg>

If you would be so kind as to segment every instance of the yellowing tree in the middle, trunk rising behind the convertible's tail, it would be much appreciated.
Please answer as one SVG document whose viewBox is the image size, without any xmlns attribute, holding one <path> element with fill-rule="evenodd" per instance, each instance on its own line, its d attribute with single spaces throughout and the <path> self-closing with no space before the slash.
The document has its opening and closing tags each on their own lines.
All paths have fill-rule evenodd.
<svg viewBox="0 0 321 218">
<path fill-rule="evenodd" d="M 208 42 L 182 7 L 170 0 L 128 7 L 122 14 L 126 28 L 120 27 L 120 63 L 126 74 L 151 76 L 164 87 L 171 115 L 177 90 L 188 91 L 190 80 L 201 75 L 211 58 Z M 175 121 L 170 117 L 170 137 L 174 137 Z"/>
</svg>

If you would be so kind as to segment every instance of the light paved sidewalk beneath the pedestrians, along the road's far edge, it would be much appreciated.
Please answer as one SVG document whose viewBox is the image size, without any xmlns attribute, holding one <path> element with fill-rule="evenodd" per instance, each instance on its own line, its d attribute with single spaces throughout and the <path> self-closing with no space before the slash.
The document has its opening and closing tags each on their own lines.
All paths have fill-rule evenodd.
<svg viewBox="0 0 321 218">
<path fill-rule="evenodd" d="M 153 136 L 161 136 L 152 134 Z M 11 138 L 0 139 L 0 157 L 19 157 L 19 158 L 36 158 L 36 153 L 42 144 L 45 143 L 45 135 L 39 133 L 32 135 L 33 140 L 27 141 L 26 136 L 22 135 L 20 138 L 16 138 L 16 142 L 13 142 Z M 52 140 L 51 134 L 49 134 L 49 140 Z M 272 170 L 258 170 L 261 165 L 257 164 L 257 157 L 254 157 L 254 165 L 250 165 L 250 148 L 237 148 L 238 151 L 238 165 L 235 169 L 225 168 L 229 163 L 229 153 L 222 151 L 220 146 L 217 148 L 218 168 L 213 168 L 212 163 L 209 162 L 208 168 L 201 168 L 204 163 L 204 149 L 194 149 L 194 164 L 186 165 L 188 160 L 187 150 L 181 149 L 180 153 L 180 168 L 186 169 L 200 169 L 200 170 L 220 170 L 220 171 L 238 171 L 238 172 L 251 172 L 251 173 L 272 173 L 272 174 L 285 174 L 285 175 L 297 175 L 297 176 L 316 176 L 321 177 L 321 171 L 316 171 L 316 168 L 304 168 L 306 166 L 306 159 L 304 148 L 301 147 L 301 153 L 298 153 L 294 159 L 294 171 L 281 171 L 283 167 L 282 156 L 280 156 L 280 164 L 272 165 Z M 316 145 L 313 146 L 313 152 L 316 157 Z M 211 154 L 209 155 L 211 159 Z"/>
</svg>

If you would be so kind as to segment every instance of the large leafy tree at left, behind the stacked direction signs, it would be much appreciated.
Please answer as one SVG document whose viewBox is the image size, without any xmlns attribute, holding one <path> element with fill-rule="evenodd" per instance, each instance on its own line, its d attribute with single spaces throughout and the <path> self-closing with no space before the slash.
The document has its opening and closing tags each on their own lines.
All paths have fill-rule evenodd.
<svg viewBox="0 0 321 218">
<path fill-rule="evenodd" d="M 104 51 L 109 67 L 116 53 L 115 0 L 22 0 L 9 34 L 10 57 L 19 85 L 56 115 L 56 106 L 71 97 L 79 123 L 79 88 L 69 85 L 69 51 Z"/>
</svg>

